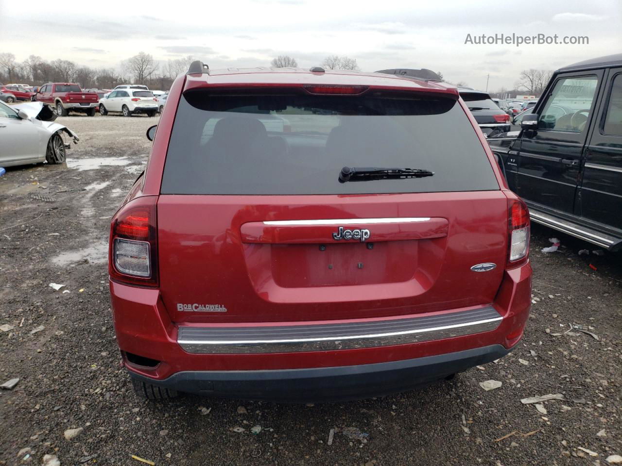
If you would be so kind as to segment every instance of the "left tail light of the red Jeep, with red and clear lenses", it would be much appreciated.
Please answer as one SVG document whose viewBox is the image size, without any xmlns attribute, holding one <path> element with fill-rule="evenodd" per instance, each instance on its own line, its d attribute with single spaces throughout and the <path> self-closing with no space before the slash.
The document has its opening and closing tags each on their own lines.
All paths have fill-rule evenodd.
<svg viewBox="0 0 622 466">
<path fill-rule="evenodd" d="M 110 223 L 108 273 L 128 285 L 157 286 L 157 196 L 124 205 Z"/>
</svg>

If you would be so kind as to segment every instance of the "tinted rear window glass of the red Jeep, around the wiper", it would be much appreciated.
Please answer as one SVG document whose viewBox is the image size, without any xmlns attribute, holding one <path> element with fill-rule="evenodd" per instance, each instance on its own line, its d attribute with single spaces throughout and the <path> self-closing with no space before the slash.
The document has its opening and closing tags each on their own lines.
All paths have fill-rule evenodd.
<svg viewBox="0 0 622 466">
<path fill-rule="evenodd" d="M 340 183 L 343 167 L 426 178 Z M 180 99 L 162 194 L 364 194 L 498 190 L 460 104 L 403 96 L 208 94 Z"/>
</svg>

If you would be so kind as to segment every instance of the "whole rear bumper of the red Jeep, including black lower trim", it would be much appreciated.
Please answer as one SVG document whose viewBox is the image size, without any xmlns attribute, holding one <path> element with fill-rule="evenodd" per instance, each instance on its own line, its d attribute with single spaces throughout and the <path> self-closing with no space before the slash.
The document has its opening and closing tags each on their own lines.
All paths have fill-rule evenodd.
<svg viewBox="0 0 622 466">
<path fill-rule="evenodd" d="M 254 398 L 258 398 L 260 396 L 256 393 L 258 390 L 266 390 L 266 387 L 271 386 L 271 383 L 276 385 L 281 383 L 271 381 L 262 385 L 262 383 L 259 383 L 259 380 L 262 380 L 264 375 L 267 377 L 266 380 L 281 380 L 281 378 L 294 378 L 298 380 L 302 378 L 302 380 L 305 380 L 304 383 L 307 383 L 307 381 L 315 383 L 313 380 L 317 378 L 322 380 L 322 383 L 327 383 L 327 380 L 330 381 L 331 377 L 336 377 L 335 374 L 345 373 L 348 375 L 348 378 L 352 378 L 353 386 L 356 388 L 351 389 L 353 393 L 350 395 L 347 395 L 350 388 L 346 389 L 343 396 L 357 397 L 369 396 L 369 393 L 372 393 L 371 391 L 368 393 L 366 388 L 366 385 L 371 382 L 364 377 L 378 377 L 378 373 L 383 373 L 384 371 L 387 371 L 389 375 L 391 375 L 393 370 L 397 370 L 398 375 L 400 373 L 402 375 L 403 373 L 407 374 L 403 377 L 401 375 L 399 377 L 396 376 L 395 383 L 388 388 L 390 391 L 399 391 L 445 377 L 450 373 L 465 370 L 468 367 L 488 360 L 498 359 L 498 357 L 504 354 L 503 351 L 508 352 L 521 339 L 522 331 L 529 315 L 531 306 L 531 265 L 527 262 L 521 267 L 504 271 L 503 280 L 494 302 L 490 306 L 475 306 L 478 309 L 488 308 L 490 311 L 494 311 L 494 316 L 488 317 L 488 319 L 495 319 L 491 327 L 471 328 L 468 333 L 452 330 L 450 334 L 434 335 L 433 339 L 417 338 L 415 340 L 402 341 L 385 339 L 384 342 L 372 345 L 368 345 L 369 341 L 365 341 L 365 339 L 358 340 L 358 342 L 363 342 L 361 345 L 343 346 L 340 346 L 340 341 L 342 340 L 333 340 L 328 342 L 327 347 L 313 347 L 312 349 L 305 348 L 303 345 L 278 351 L 273 348 L 262 349 L 262 352 L 246 352 L 244 350 L 236 350 L 234 346 L 232 349 L 230 345 L 224 345 L 225 351 L 218 353 L 215 350 L 205 350 L 205 347 L 199 344 L 200 352 L 190 352 L 191 347 L 187 347 L 187 350 L 184 350 L 182 347 L 183 339 L 180 337 L 183 336 L 183 331 L 180 332 L 180 326 L 183 327 L 183 325 L 170 320 L 169 313 L 167 313 L 164 303 L 162 303 L 159 290 L 121 285 L 111 281 L 110 292 L 116 337 L 123 354 L 123 363 L 130 371 L 132 377 L 143 378 L 143 380 L 147 380 L 149 383 L 166 383 L 181 391 L 195 391 L 197 393 L 203 393 L 203 389 L 197 387 L 202 386 L 202 380 L 206 380 L 216 387 L 211 389 L 213 395 L 226 396 L 227 393 L 230 395 L 235 393 L 235 395 L 231 396 L 244 398 L 249 396 L 250 393 Z M 433 313 L 436 314 L 435 316 L 421 314 L 416 319 L 447 316 L 457 311 L 458 309 L 450 309 L 442 313 Z M 401 323 L 411 325 L 410 322 L 407 322 L 409 319 L 406 319 L 406 316 L 401 316 L 401 318 L 396 319 L 396 321 L 401 320 Z M 471 319 L 469 322 L 486 321 L 488 319 Z M 379 319 L 369 319 L 369 322 L 366 323 L 376 325 L 378 321 Z M 322 325 L 327 323 L 340 324 L 340 322 L 322 322 Z M 302 322 L 299 322 L 299 324 L 302 324 Z M 186 325 L 193 326 L 195 329 L 210 328 L 208 324 Z M 267 322 L 239 325 L 246 326 L 246 329 L 261 326 L 264 326 L 264 329 L 266 329 L 266 325 L 272 327 Z M 211 326 L 211 329 L 215 327 L 218 326 Z M 290 327 L 295 326 L 292 325 Z M 220 325 L 220 328 L 223 328 L 223 326 Z M 346 330 L 350 329 L 350 327 L 341 327 L 339 331 L 341 332 L 344 328 Z M 435 329 L 435 327 L 426 328 Z M 376 327 L 374 327 L 374 332 L 375 329 Z M 413 334 L 417 335 L 419 329 L 420 327 L 411 327 L 411 330 L 415 332 L 410 332 L 406 335 L 409 338 Z M 333 329 L 322 330 L 332 331 Z M 291 331 L 298 332 L 299 329 Z M 390 331 L 388 333 L 392 334 L 395 332 Z M 309 334 L 305 334 L 305 337 L 310 337 L 315 341 L 317 340 L 317 335 L 309 336 Z M 355 337 L 366 336 L 366 334 L 361 332 L 356 332 L 352 335 Z M 368 335 L 377 336 L 377 333 Z M 200 337 L 205 337 L 205 334 L 200 334 Z M 243 346 L 244 349 L 248 349 L 249 347 L 252 348 L 253 344 L 244 344 Z M 494 349 L 491 350 L 490 347 Z M 464 353 L 465 351 L 468 353 Z M 130 357 L 130 360 L 128 360 L 128 354 L 154 361 L 151 362 L 150 367 L 137 365 L 130 361 L 136 362 L 137 359 Z M 483 359 L 473 359 L 471 357 L 473 354 Z M 486 354 L 490 354 L 490 359 Z M 447 361 L 452 361 L 452 363 L 444 365 Z M 432 366 L 437 364 L 441 364 L 442 367 L 433 370 Z M 422 367 L 427 369 L 424 370 Z M 361 375 L 363 378 L 358 379 L 355 377 L 358 373 L 367 375 Z M 375 373 L 376 375 L 371 376 L 369 373 Z M 382 377 L 379 380 L 383 380 Z M 223 380 L 223 385 L 214 385 L 214 382 L 218 380 Z M 235 389 L 237 383 L 244 385 L 244 387 L 239 389 L 239 392 L 235 391 L 237 390 Z M 255 383 L 259 383 L 259 387 L 253 389 L 252 385 Z M 292 382 L 291 384 L 293 385 L 290 384 L 289 386 L 295 387 L 295 383 L 299 382 Z M 250 388 L 249 384 L 251 385 Z M 218 388 L 220 386 L 222 388 Z M 287 395 L 289 390 L 285 390 L 285 395 Z M 299 389 L 295 388 L 292 390 Z M 373 388 L 374 393 L 377 391 L 377 388 Z M 285 400 L 289 395 L 279 396 Z"/>
</svg>

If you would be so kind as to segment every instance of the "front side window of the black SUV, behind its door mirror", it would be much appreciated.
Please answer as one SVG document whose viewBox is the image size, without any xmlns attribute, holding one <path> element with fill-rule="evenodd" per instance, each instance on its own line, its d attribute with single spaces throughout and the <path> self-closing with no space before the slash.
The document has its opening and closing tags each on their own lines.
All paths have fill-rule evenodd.
<svg viewBox="0 0 622 466">
<path fill-rule="evenodd" d="M 596 84 L 596 76 L 558 80 L 540 114 L 538 127 L 554 131 L 582 132 L 590 117 Z M 557 117 L 558 111 L 555 107 L 564 108 L 567 113 Z"/>
</svg>

